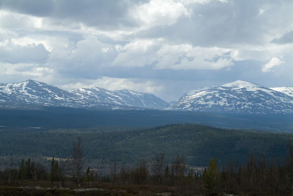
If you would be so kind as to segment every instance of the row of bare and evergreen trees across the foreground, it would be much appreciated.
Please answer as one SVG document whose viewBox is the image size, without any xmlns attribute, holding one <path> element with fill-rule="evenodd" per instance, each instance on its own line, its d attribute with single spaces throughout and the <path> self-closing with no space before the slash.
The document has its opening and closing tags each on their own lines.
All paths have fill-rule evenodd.
<svg viewBox="0 0 293 196">
<path fill-rule="evenodd" d="M 67 159 L 51 160 L 50 169 L 31 159 L 22 159 L 18 168 L 13 168 L 13 160 L 0 171 L 0 183 L 25 185 L 27 181 L 49 180 L 52 186 L 66 187 L 67 182 L 75 182 L 77 187 L 92 187 L 95 182 L 112 185 L 172 186 L 181 194 L 239 193 L 255 192 L 268 195 L 290 195 L 293 193 L 293 145 L 288 140 L 287 158 L 266 159 L 265 154 L 251 153 L 245 164 L 231 159 L 223 169 L 217 167 L 214 158 L 203 172 L 189 167 L 183 154 L 178 154 L 171 162 L 165 152 L 153 155 L 151 161 L 140 158 L 137 166 L 113 161 L 108 175 L 100 176 L 94 169 L 85 167 L 84 148 L 81 137 L 72 144 L 72 155 Z"/>
</svg>

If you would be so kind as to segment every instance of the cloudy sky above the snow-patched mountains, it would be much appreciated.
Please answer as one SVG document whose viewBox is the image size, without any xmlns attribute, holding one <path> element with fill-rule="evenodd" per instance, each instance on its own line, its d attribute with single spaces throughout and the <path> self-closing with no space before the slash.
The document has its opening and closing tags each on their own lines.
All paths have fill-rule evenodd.
<svg viewBox="0 0 293 196">
<path fill-rule="evenodd" d="M 0 83 L 171 101 L 246 80 L 293 86 L 292 0 L 0 0 Z"/>
</svg>

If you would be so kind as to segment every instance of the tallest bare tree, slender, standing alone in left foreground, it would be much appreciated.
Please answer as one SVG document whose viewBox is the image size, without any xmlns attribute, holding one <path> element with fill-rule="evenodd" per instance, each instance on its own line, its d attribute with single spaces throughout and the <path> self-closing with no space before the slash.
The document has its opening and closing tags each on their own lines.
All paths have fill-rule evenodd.
<svg viewBox="0 0 293 196">
<path fill-rule="evenodd" d="M 73 153 L 71 160 L 69 161 L 69 166 L 71 169 L 73 179 L 78 187 L 80 187 L 81 170 L 84 166 L 83 149 L 81 144 L 81 137 L 78 136 L 77 141 L 73 142 Z"/>
</svg>

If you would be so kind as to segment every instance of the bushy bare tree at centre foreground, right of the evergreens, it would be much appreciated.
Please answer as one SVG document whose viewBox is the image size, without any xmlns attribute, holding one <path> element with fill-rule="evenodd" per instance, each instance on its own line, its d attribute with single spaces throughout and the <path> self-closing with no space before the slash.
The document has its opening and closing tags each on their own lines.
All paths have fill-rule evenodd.
<svg viewBox="0 0 293 196">
<path fill-rule="evenodd" d="M 157 155 L 152 160 L 151 171 L 156 178 L 156 183 L 161 184 L 161 178 L 165 169 L 165 153 L 161 152 L 160 155 Z"/>
</svg>

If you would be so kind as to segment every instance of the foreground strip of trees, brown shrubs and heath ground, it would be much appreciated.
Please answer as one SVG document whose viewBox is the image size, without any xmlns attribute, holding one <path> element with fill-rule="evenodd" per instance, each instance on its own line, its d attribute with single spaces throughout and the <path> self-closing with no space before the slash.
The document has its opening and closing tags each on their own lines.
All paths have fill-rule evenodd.
<svg viewBox="0 0 293 196">
<path fill-rule="evenodd" d="M 100 176 L 85 167 L 80 138 L 74 142 L 70 159 L 51 160 L 50 170 L 38 162 L 22 160 L 18 169 L 0 171 L 1 195 L 292 195 L 293 146 L 282 160 L 267 161 L 265 155 L 250 154 L 246 164 L 230 160 L 223 170 L 214 158 L 200 173 L 178 155 L 166 162 L 164 152 L 142 158 L 139 165 L 114 161 L 108 175 Z M 74 164 L 74 166 L 72 166 Z M 60 189 L 62 188 L 62 189 Z M 66 189 L 64 189 L 66 188 Z"/>
</svg>

